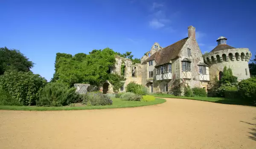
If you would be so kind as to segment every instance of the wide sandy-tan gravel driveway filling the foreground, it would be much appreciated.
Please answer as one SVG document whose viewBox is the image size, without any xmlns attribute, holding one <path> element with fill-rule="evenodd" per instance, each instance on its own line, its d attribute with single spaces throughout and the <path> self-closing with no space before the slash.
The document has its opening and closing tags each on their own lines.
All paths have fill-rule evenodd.
<svg viewBox="0 0 256 149">
<path fill-rule="evenodd" d="M 0 110 L 0 149 L 256 149 L 255 107 L 166 100 L 126 109 Z"/>
</svg>

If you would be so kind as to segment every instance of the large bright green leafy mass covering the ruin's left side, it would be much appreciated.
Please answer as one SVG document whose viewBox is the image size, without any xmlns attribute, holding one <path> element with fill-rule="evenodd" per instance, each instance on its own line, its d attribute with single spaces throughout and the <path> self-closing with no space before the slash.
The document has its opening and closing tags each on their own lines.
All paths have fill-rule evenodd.
<svg viewBox="0 0 256 149">
<path fill-rule="evenodd" d="M 88 55 L 56 58 L 55 74 L 58 75 L 59 82 L 69 86 L 74 83 L 99 85 L 108 80 L 108 70 L 115 63 L 115 54 L 112 49 L 106 48 L 93 50 Z"/>
</svg>

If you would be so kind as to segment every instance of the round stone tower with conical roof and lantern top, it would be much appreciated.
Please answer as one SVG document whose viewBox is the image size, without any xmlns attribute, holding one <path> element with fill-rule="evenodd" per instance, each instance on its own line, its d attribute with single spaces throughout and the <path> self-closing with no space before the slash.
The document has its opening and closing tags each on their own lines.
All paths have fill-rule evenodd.
<svg viewBox="0 0 256 149">
<path fill-rule="evenodd" d="M 205 63 L 209 65 L 210 84 L 213 83 L 215 77 L 218 80 L 221 79 L 224 66 L 230 67 L 238 80 L 249 78 L 248 62 L 251 57 L 249 49 L 229 46 L 227 45 L 227 38 L 223 36 L 216 41 L 218 46 L 204 56 Z"/>
</svg>

